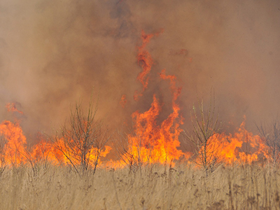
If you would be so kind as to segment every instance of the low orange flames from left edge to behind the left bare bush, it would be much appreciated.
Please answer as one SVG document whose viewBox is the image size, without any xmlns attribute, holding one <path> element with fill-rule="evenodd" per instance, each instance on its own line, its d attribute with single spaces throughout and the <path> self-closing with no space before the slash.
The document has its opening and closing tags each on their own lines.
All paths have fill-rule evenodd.
<svg viewBox="0 0 280 210">
<path fill-rule="evenodd" d="M 72 155 L 71 160 L 76 160 L 76 164 L 79 162 L 80 156 L 78 153 L 75 156 L 72 153 L 68 153 L 62 139 L 56 142 L 48 142 L 41 139 L 38 144 L 27 149 L 26 137 L 22 132 L 19 121 L 12 123 L 4 120 L 0 124 L 0 134 L 2 136 L 1 141 L 3 141 L 0 154 L 1 166 L 18 166 L 27 164 L 27 162 L 31 164 L 49 162 L 52 165 L 68 165 L 69 158 L 67 158 L 67 155 L 68 157 Z M 78 148 L 73 149 L 78 150 Z M 96 163 L 102 163 L 99 158 L 106 157 L 110 151 L 110 146 L 104 146 L 102 150 L 91 148 L 87 156 L 89 158 L 89 165 L 94 167 Z"/>
</svg>

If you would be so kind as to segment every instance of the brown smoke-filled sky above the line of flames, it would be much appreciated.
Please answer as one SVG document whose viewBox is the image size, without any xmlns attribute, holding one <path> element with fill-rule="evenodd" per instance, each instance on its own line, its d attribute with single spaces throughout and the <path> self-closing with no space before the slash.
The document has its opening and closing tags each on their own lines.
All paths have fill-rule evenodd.
<svg viewBox="0 0 280 210">
<path fill-rule="evenodd" d="M 98 99 L 98 118 L 122 125 L 146 111 L 153 94 L 168 116 L 172 93 L 158 73 L 166 69 L 182 87 L 185 125 L 197 98 L 215 92 L 221 120 L 247 127 L 280 111 L 280 2 L 16 1 L 0 2 L 0 120 L 20 118 L 25 132 L 59 127 L 75 102 Z M 148 88 L 141 91 L 137 46 L 141 31 L 158 33 Z M 127 95 L 125 109 L 120 98 Z M 7 113 L 15 102 L 24 116 Z"/>
</svg>

